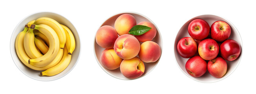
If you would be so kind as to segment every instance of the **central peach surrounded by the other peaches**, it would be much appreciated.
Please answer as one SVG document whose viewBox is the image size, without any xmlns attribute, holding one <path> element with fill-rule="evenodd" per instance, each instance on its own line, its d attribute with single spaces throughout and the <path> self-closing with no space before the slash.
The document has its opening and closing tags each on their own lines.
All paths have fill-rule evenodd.
<svg viewBox="0 0 256 94">
<path fill-rule="evenodd" d="M 114 50 L 117 56 L 124 60 L 129 60 L 139 53 L 140 43 L 134 36 L 124 34 L 115 41 Z"/>
</svg>

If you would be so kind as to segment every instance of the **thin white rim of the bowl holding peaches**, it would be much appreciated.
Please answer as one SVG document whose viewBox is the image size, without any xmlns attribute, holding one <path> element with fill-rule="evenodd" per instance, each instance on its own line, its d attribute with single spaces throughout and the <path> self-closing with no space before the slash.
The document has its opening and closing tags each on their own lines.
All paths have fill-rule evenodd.
<svg viewBox="0 0 256 94">
<path fill-rule="evenodd" d="M 108 17 L 106 20 L 104 20 L 104 21 L 102 22 L 102 24 L 104 24 L 104 22 L 106 22 L 108 19 L 110 19 L 111 17 L 113 17 L 113 16 L 115 16 L 115 15 L 118 15 L 118 14 L 126 14 L 126 13 L 127 13 L 127 14 L 132 13 L 132 14 L 137 14 L 137 15 L 143 16 L 144 18 L 146 18 L 147 20 L 149 20 L 149 22 L 151 22 L 152 24 L 155 25 L 155 23 L 154 23 L 150 18 L 148 18 L 147 16 L 144 16 L 144 15 L 141 14 L 141 13 L 136 13 L 136 12 L 133 12 L 133 11 L 125 11 L 125 12 L 116 13 L 116 14 L 114 14 L 114 15 Z M 101 24 L 101 25 L 102 25 L 102 24 Z M 100 26 L 100 27 L 101 27 L 101 26 Z M 99 27 L 99 28 L 100 28 L 100 27 Z M 160 45 L 159 45 L 159 46 L 161 47 L 161 55 L 160 55 L 160 57 L 159 57 L 159 59 L 158 59 L 158 62 L 160 62 L 160 60 L 161 60 L 160 58 L 162 57 L 162 54 L 163 54 L 163 39 L 162 39 L 161 33 L 160 33 L 160 31 L 159 31 L 157 25 L 155 25 L 155 28 L 157 29 L 157 31 L 158 31 L 157 33 L 158 33 L 159 36 L 160 36 L 159 38 L 160 38 L 161 46 L 160 46 Z M 105 71 L 107 74 L 109 74 L 110 76 L 112 76 L 113 78 L 117 78 L 117 79 L 119 79 L 119 80 L 136 80 L 136 79 L 139 79 L 139 78 L 141 78 L 141 77 L 146 76 L 146 75 L 149 74 L 151 71 L 153 71 L 153 70 L 155 69 L 155 67 L 157 66 L 158 62 L 155 64 L 155 66 L 154 66 L 150 71 L 147 72 L 147 74 L 143 74 L 142 76 L 140 76 L 140 77 L 138 77 L 138 78 L 135 78 L 135 79 L 129 79 L 129 78 L 123 79 L 123 78 L 120 78 L 120 77 L 117 77 L 117 76 L 111 74 L 110 72 L 106 71 L 106 69 L 104 69 L 104 67 L 101 65 L 100 61 L 97 59 L 96 52 L 95 52 L 95 42 L 96 42 L 95 38 L 96 38 L 96 33 L 97 33 L 97 31 L 95 32 L 94 41 L 93 41 L 93 52 L 94 52 L 95 59 L 96 59 L 97 63 L 99 64 L 99 66 L 101 67 L 101 69 L 102 69 L 103 71 Z M 97 44 L 97 45 L 98 45 L 98 44 Z M 143 63 L 144 63 L 144 62 L 143 62 Z"/>
</svg>

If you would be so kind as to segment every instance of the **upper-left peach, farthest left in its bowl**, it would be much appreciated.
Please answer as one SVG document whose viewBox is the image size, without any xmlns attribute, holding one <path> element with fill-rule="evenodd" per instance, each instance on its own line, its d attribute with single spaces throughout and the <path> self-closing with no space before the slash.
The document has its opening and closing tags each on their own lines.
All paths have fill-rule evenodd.
<svg viewBox="0 0 256 94">
<path fill-rule="evenodd" d="M 98 45 L 105 49 L 114 47 L 115 40 L 117 40 L 118 34 L 112 26 L 104 25 L 99 28 L 96 33 L 96 42 Z"/>
</svg>

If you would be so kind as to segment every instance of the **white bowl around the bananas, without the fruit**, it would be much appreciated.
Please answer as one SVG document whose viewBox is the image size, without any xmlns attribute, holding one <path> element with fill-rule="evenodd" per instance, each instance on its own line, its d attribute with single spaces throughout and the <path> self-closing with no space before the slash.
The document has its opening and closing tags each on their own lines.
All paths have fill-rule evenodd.
<svg viewBox="0 0 256 94">
<path fill-rule="evenodd" d="M 41 71 L 35 71 L 33 69 L 30 69 L 26 65 L 24 65 L 20 61 L 20 59 L 18 58 L 18 56 L 16 54 L 16 50 L 15 50 L 16 36 L 18 35 L 18 33 L 23 31 L 24 26 L 27 24 L 27 22 L 29 22 L 31 20 L 36 20 L 37 18 L 40 18 L 40 17 L 49 17 L 49 18 L 56 20 L 60 24 L 66 25 L 67 27 L 69 27 L 69 29 L 72 31 L 72 33 L 75 37 L 75 44 L 76 44 L 75 51 L 72 53 L 72 58 L 71 58 L 71 61 L 68 65 L 68 67 L 64 71 L 62 71 L 61 73 L 59 73 L 55 76 L 40 76 Z M 63 16 L 56 14 L 56 13 L 39 12 L 39 13 L 30 14 L 29 16 L 25 17 L 15 27 L 13 34 L 11 36 L 10 50 L 11 50 L 11 56 L 13 58 L 15 65 L 26 76 L 28 76 L 32 79 L 35 79 L 35 80 L 39 80 L 39 81 L 52 81 L 52 80 L 57 80 L 59 78 L 62 78 L 63 76 L 68 74 L 75 67 L 75 65 L 77 64 L 77 61 L 79 59 L 79 56 L 80 56 L 80 39 L 79 39 L 79 34 L 77 33 L 77 30 L 75 29 L 73 24 L 71 22 L 69 22 L 68 19 L 66 19 Z"/>
</svg>

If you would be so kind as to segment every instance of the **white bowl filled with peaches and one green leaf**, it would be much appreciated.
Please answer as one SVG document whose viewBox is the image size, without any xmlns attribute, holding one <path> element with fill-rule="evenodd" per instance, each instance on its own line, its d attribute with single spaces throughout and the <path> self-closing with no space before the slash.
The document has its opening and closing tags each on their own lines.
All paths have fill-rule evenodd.
<svg viewBox="0 0 256 94">
<path fill-rule="evenodd" d="M 121 80 L 141 78 L 160 60 L 162 38 L 156 25 L 139 13 L 110 17 L 95 34 L 94 54 L 99 66 Z"/>
</svg>

